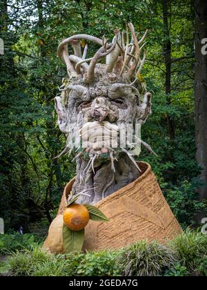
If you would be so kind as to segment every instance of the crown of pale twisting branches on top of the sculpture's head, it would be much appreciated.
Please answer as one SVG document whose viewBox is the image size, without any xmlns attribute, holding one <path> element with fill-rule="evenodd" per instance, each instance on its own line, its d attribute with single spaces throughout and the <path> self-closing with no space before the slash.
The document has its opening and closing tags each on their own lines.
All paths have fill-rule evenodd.
<svg viewBox="0 0 207 290">
<path fill-rule="evenodd" d="M 72 37 L 64 39 L 59 44 L 57 54 L 63 63 L 66 64 L 69 77 L 84 75 L 86 77 L 86 83 L 92 83 L 95 78 L 96 64 L 103 57 L 107 57 L 106 72 L 112 72 L 114 69 L 115 71 L 118 70 L 120 76 L 125 75 L 129 80 L 136 71 L 140 73 L 146 60 L 146 52 L 144 52 L 144 56 L 141 59 L 141 51 L 146 45 L 146 42 L 144 44 L 142 43 L 146 39 L 148 30 L 146 30 L 140 40 L 138 40 L 140 33 L 137 34 L 135 32 L 132 23 L 126 24 L 126 31 L 122 32 L 122 34 L 117 29 L 114 32 L 115 37 L 112 43 L 108 43 L 106 37 L 99 39 L 92 35 L 84 34 L 73 35 Z M 86 59 L 88 44 L 85 45 L 82 53 L 80 39 L 97 43 L 101 48 L 95 53 L 94 57 Z M 72 45 L 74 55 L 68 54 L 69 43 Z M 88 65 L 87 63 L 89 61 L 90 64 Z"/>
</svg>

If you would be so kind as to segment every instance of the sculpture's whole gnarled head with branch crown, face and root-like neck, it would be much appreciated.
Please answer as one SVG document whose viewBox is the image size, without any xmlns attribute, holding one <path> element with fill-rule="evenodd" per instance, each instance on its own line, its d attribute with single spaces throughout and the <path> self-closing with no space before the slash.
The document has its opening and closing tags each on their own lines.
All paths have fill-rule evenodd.
<svg viewBox="0 0 207 290">
<path fill-rule="evenodd" d="M 129 150 L 137 146 L 137 139 L 132 137 L 137 124 L 144 124 L 151 113 L 151 94 L 146 92 L 144 81 L 139 81 L 141 70 L 132 81 L 138 63 L 141 68 L 145 57 L 140 58 L 140 43 L 132 24 L 128 27 L 132 34 L 130 46 L 124 47 L 123 39 L 119 43 L 117 30 L 110 44 L 89 35 L 75 35 L 59 46 L 59 56 L 69 75 L 60 88 L 61 95 L 55 98 L 59 128 L 68 136 L 63 153 L 78 151 L 73 193 L 90 191 L 90 197 L 79 202 L 95 203 L 140 174 Z M 86 59 L 88 46 L 82 55 L 77 39 L 102 46 L 92 59 Z M 68 55 L 68 43 L 75 55 Z M 97 64 L 107 55 L 106 64 Z"/>
</svg>

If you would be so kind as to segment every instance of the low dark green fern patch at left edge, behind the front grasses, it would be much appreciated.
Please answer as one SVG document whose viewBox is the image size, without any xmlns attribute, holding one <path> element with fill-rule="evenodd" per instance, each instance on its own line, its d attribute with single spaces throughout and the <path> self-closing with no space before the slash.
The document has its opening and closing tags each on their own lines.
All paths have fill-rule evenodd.
<svg viewBox="0 0 207 290">
<path fill-rule="evenodd" d="M 37 245 L 37 237 L 32 234 L 0 235 L 0 255 L 20 249 L 32 249 Z"/>
</svg>

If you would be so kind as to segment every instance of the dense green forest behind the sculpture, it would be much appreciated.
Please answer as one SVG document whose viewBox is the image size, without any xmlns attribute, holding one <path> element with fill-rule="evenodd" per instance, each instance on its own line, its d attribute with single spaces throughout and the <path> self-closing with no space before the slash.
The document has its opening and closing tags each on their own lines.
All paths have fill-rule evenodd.
<svg viewBox="0 0 207 290">
<path fill-rule="evenodd" d="M 139 160 L 152 165 L 181 226 L 199 222 L 197 213 L 206 211 L 199 188 L 206 185 L 195 158 L 194 1 L 0 0 L 0 8 L 0 215 L 6 231 L 46 228 L 75 175 L 72 156 L 54 159 L 66 142 L 54 109 L 66 77 L 59 42 L 81 32 L 112 38 L 127 21 L 141 33 L 150 30 L 142 74 L 153 114 L 142 138 L 159 157 L 143 148 Z"/>
</svg>

